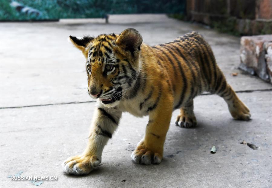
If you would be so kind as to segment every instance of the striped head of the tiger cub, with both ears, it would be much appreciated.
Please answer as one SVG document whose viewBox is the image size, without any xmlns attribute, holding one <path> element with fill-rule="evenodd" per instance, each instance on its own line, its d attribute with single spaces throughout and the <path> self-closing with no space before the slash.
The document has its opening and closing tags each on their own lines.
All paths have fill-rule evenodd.
<svg viewBox="0 0 272 188">
<path fill-rule="evenodd" d="M 70 41 L 86 57 L 88 92 L 92 98 L 114 107 L 128 97 L 139 71 L 143 41 L 136 29 L 126 29 L 120 35 L 70 36 Z"/>
</svg>

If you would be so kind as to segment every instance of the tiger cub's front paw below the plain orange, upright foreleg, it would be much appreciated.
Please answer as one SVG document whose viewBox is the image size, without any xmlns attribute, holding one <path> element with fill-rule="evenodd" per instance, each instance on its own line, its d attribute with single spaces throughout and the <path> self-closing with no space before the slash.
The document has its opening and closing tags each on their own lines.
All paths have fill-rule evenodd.
<svg viewBox="0 0 272 188">
<path fill-rule="evenodd" d="M 136 150 L 131 154 L 131 158 L 138 164 L 159 164 L 162 161 L 162 154 L 146 148 L 143 143 L 139 143 Z"/>
</svg>

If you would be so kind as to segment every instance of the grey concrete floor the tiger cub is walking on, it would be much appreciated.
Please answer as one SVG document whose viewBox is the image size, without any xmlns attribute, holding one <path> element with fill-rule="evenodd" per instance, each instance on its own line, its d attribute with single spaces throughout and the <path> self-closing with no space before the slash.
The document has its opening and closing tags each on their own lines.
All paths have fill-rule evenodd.
<svg viewBox="0 0 272 188">
<path fill-rule="evenodd" d="M 272 187 L 272 86 L 237 70 L 240 39 L 165 15 L 112 15 L 109 22 L 1 23 L 1 186 L 35 186 L 7 177 L 23 170 L 24 176 L 57 176 L 57 181 L 39 187 Z M 150 45 L 193 30 L 204 35 L 252 120 L 233 120 L 223 99 L 199 96 L 198 127 L 176 127 L 179 111 L 174 111 L 164 160 L 142 166 L 130 154 L 144 135 L 148 117 L 125 113 L 103 151 L 101 166 L 87 176 L 67 176 L 61 163 L 84 150 L 95 105 L 87 94 L 84 57 L 67 37 L 120 33 L 130 27 Z M 259 149 L 240 144 L 242 140 Z M 215 154 L 210 153 L 213 145 Z"/>
</svg>

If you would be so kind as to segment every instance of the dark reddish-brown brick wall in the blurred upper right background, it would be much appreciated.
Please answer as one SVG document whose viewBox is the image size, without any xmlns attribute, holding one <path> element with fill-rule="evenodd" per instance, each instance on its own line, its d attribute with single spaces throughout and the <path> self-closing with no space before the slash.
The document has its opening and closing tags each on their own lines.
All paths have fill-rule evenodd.
<svg viewBox="0 0 272 188">
<path fill-rule="evenodd" d="M 239 35 L 272 33 L 272 0 L 187 0 L 187 19 Z"/>
</svg>

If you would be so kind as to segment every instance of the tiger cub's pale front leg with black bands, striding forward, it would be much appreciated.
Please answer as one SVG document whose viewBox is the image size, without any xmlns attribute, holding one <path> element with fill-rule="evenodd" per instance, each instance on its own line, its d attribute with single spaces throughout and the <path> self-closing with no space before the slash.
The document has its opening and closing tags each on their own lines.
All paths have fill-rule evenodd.
<svg viewBox="0 0 272 188">
<path fill-rule="evenodd" d="M 81 155 L 69 157 L 63 163 L 68 174 L 88 174 L 101 163 L 104 146 L 118 126 L 122 112 L 116 109 L 98 107 L 93 115 L 88 144 Z"/>
</svg>

